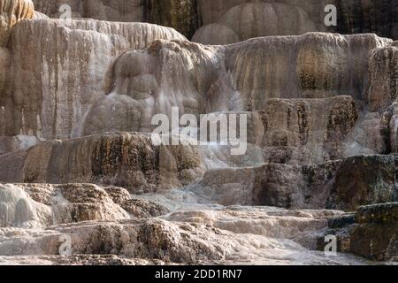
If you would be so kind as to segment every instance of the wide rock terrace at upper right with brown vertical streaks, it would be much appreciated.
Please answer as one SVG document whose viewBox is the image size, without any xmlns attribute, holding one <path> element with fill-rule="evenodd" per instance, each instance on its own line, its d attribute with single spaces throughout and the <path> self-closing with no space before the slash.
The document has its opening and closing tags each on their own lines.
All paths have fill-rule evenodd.
<svg viewBox="0 0 398 283">
<path fill-rule="evenodd" d="M 256 38 L 226 46 L 226 71 L 249 110 L 270 98 L 364 100 L 371 50 L 389 42 L 374 34 Z"/>
</svg>

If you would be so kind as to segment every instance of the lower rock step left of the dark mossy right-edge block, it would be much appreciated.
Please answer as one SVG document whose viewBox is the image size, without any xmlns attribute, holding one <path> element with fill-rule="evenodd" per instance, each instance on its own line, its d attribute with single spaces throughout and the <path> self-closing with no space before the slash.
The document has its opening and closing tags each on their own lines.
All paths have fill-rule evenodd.
<svg viewBox="0 0 398 283">
<path fill-rule="evenodd" d="M 325 209 L 339 164 L 212 169 L 189 191 L 223 205 Z"/>
</svg>

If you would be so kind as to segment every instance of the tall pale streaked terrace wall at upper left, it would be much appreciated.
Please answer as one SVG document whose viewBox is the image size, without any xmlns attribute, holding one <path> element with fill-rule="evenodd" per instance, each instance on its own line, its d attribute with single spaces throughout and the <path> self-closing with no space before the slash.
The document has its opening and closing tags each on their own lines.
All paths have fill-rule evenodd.
<svg viewBox="0 0 398 283">
<path fill-rule="evenodd" d="M 12 76 L 2 97 L 7 124 L 1 134 L 44 139 L 81 136 L 91 105 L 111 88 L 112 66 L 121 53 L 156 39 L 184 39 L 173 29 L 148 24 L 56 19 L 21 22 L 11 37 Z M 46 44 L 52 47 L 43 49 Z"/>
</svg>

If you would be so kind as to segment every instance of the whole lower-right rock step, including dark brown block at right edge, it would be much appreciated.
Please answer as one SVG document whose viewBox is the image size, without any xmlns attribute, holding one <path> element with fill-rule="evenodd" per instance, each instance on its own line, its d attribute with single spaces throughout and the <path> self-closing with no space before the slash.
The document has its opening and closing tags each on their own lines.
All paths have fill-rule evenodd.
<svg viewBox="0 0 398 283">
<path fill-rule="evenodd" d="M 397 200 L 394 156 L 359 156 L 313 165 L 211 169 L 189 191 L 223 205 L 353 211 Z"/>
</svg>

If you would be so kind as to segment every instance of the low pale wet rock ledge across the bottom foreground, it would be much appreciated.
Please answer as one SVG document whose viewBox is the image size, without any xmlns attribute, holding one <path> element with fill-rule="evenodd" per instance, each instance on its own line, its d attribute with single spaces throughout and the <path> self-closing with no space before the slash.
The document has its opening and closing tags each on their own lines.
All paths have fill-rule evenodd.
<svg viewBox="0 0 398 283">
<path fill-rule="evenodd" d="M 117 258 L 120 258 L 118 264 L 123 263 L 124 257 L 129 258 L 127 263 L 134 263 L 134 258 L 139 257 L 143 258 L 141 263 L 161 260 L 180 264 L 226 264 L 244 259 L 247 263 L 263 260 L 272 264 L 294 264 L 304 260 L 308 264 L 320 264 L 324 260 L 322 253 L 308 251 L 295 241 L 279 237 L 295 239 L 302 238 L 302 233 L 314 233 L 312 240 L 307 241 L 315 242 L 317 231 L 327 225 L 325 216 L 338 213 L 231 209 L 181 211 L 165 219 L 83 222 L 49 226 L 41 231 L 2 228 L 0 250 L 2 255 L 10 256 L 8 262 L 23 262 L 30 255 L 29 258 L 35 258 L 38 263 L 47 259 L 62 264 L 62 257 L 56 257 L 61 245 L 59 238 L 69 235 L 73 255 L 113 254 L 118 255 L 113 256 L 114 262 L 118 263 Z M 253 223 L 256 226 L 252 226 Z M 248 230 L 250 226 L 256 227 L 255 230 Z M 271 227 L 274 228 L 270 230 Z M 26 249 L 16 249 L 20 245 L 25 245 Z M 72 256 L 67 263 L 77 260 L 81 263 L 90 257 L 93 263 L 112 261 L 98 256 Z M 341 256 L 340 259 L 347 264 L 365 263 L 355 256 Z M 337 262 L 338 259 L 330 261 L 331 264 Z"/>
</svg>

